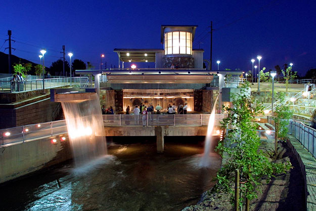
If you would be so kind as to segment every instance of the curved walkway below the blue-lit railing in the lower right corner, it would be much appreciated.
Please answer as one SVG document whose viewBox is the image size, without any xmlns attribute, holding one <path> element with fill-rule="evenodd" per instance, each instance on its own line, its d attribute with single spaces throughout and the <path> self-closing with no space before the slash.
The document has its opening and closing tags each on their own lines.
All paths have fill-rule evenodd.
<svg viewBox="0 0 316 211">
<path fill-rule="evenodd" d="M 316 211 L 316 159 L 303 147 L 303 145 L 293 136 L 289 136 L 289 146 L 295 148 L 299 157 L 306 192 L 306 206 L 308 211 Z"/>
</svg>

